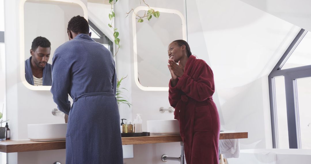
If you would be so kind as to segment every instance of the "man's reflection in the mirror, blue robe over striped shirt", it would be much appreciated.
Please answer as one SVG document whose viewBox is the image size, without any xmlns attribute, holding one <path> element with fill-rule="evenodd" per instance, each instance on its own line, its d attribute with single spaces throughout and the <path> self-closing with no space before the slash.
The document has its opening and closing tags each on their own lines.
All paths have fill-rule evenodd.
<svg viewBox="0 0 311 164">
<path fill-rule="evenodd" d="M 38 36 L 31 44 L 30 58 L 25 61 L 25 77 L 29 84 L 42 86 L 52 85 L 52 65 L 48 63 L 51 43 Z"/>
</svg>

